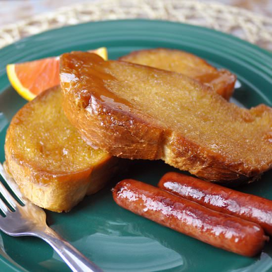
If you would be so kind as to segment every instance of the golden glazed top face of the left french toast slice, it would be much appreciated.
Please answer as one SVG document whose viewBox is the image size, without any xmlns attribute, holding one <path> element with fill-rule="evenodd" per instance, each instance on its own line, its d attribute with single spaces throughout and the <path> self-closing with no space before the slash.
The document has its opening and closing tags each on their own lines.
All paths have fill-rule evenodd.
<svg viewBox="0 0 272 272">
<path fill-rule="evenodd" d="M 13 158 L 42 172 L 83 171 L 108 154 L 94 150 L 81 138 L 62 110 L 59 87 L 28 103 L 13 118 L 7 134 Z"/>
</svg>

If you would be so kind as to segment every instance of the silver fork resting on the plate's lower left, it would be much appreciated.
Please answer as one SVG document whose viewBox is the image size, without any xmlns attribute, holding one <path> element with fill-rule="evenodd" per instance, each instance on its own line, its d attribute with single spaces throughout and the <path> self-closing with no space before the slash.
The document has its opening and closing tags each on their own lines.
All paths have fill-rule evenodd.
<svg viewBox="0 0 272 272">
<path fill-rule="evenodd" d="M 0 229 L 11 236 L 36 236 L 47 242 L 74 272 L 102 272 L 94 263 L 71 244 L 61 238 L 53 229 L 46 225 L 45 211 L 32 204 L 20 192 L 14 180 L 4 171 L 0 163 L 0 176 L 15 193 L 22 206 L 0 182 L 0 193 L 8 205 L 0 198 Z M 13 210 L 13 211 L 12 211 Z"/>
</svg>

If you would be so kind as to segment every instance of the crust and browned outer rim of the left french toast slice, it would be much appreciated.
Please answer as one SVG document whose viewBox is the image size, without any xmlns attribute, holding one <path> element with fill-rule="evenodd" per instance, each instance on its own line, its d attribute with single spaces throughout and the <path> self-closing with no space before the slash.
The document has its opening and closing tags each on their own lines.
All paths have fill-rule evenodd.
<svg viewBox="0 0 272 272">
<path fill-rule="evenodd" d="M 101 159 L 91 163 L 88 167 L 77 171 L 61 171 L 59 169 L 46 170 L 41 164 L 27 159 L 18 147 L 14 145 L 14 137 L 17 137 L 15 129 L 20 122 L 25 122 L 29 130 L 37 130 L 39 127 L 31 127 L 25 121 L 25 114 L 35 114 L 30 111 L 34 103 L 39 103 L 41 99 L 46 103 L 46 96 L 52 92 L 59 91 L 59 87 L 49 89 L 40 94 L 33 101 L 26 104 L 13 117 L 7 130 L 5 139 L 5 169 L 11 174 L 18 184 L 21 192 L 34 204 L 54 212 L 68 212 L 78 204 L 86 194 L 92 194 L 100 190 L 117 170 L 118 159 L 105 153 Z M 61 101 L 59 101 L 61 102 Z M 49 106 L 49 105 L 48 105 Z M 64 113 L 60 113 L 64 114 Z M 54 116 L 51 116 L 55 118 Z M 39 117 L 38 117 L 39 118 Z M 40 116 L 41 122 L 43 116 Z M 37 125 L 37 124 L 36 124 Z M 71 126 L 71 125 L 70 125 Z M 72 126 L 70 129 L 73 129 Z M 48 131 L 49 128 L 48 128 Z M 80 137 L 80 134 L 78 134 Z M 22 139 L 23 140 L 23 139 Z M 82 141 L 83 142 L 83 141 Z M 29 143 L 26 143 L 26 147 Z M 56 142 L 56 145 L 58 142 Z M 67 142 L 67 145 L 69 142 Z M 87 144 L 83 142 L 83 144 Z M 29 152 L 26 148 L 25 152 Z M 39 152 L 38 150 L 36 152 Z M 73 161 L 70 162 L 73 164 Z"/>
</svg>

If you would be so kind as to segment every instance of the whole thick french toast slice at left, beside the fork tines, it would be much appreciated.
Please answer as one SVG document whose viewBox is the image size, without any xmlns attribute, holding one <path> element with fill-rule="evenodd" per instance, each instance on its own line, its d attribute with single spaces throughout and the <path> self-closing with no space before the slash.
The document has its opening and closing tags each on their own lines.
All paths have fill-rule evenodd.
<svg viewBox="0 0 272 272">
<path fill-rule="evenodd" d="M 30 201 L 54 212 L 67 212 L 97 192 L 117 165 L 81 138 L 62 100 L 59 86 L 41 93 L 16 113 L 5 138 L 7 171 Z"/>
</svg>

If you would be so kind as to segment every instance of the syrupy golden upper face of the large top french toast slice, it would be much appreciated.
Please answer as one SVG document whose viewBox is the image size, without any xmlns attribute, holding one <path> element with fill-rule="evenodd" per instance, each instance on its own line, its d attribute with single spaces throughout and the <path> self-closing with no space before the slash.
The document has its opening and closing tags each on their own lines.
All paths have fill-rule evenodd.
<svg viewBox="0 0 272 272">
<path fill-rule="evenodd" d="M 94 109 L 94 96 L 115 110 L 153 120 L 228 163 L 272 165 L 272 110 L 265 105 L 242 109 L 181 74 L 95 54 L 66 53 L 61 62 L 62 89 L 87 109 Z"/>
</svg>

